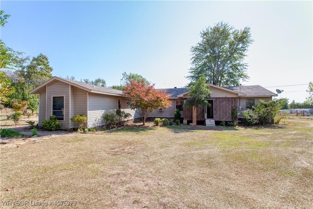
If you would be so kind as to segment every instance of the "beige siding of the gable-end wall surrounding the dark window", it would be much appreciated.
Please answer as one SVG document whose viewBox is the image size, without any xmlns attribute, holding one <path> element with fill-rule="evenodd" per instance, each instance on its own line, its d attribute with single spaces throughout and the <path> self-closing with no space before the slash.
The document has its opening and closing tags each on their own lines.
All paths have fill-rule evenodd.
<svg viewBox="0 0 313 209">
<path fill-rule="evenodd" d="M 64 96 L 64 120 L 61 122 L 61 128 L 69 128 L 69 85 L 61 81 L 55 81 L 47 85 L 47 117 L 52 115 L 52 97 Z"/>
</svg>

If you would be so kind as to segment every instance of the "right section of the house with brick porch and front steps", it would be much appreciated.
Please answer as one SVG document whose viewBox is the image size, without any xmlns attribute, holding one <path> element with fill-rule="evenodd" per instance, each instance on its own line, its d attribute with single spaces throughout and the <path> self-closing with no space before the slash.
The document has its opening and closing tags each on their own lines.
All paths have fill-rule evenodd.
<svg viewBox="0 0 313 209">
<path fill-rule="evenodd" d="M 251 109 L 256 106 L 259 101 L 272 100 L 273 96 L 277 94 L 268 91 L 267 89 L 259 86 L 239 86 L 239 87 L 220 87 L 209 84 L 210 97 L 208 102 L 211 107 L 198 107 L 197 108 L 197 121 L 201 123 L 214 124 L 215 121 L 232 121 L 231 110 L 238 109 L 238 117 L 241 118 L 242 111 Z M 165 110 L 155 110 L 151 113 L 151 117 L 174 117 L 174 111 L 180 110 L 181 117 L 185 124 L 192 121 L 192 108 L 183 108 L 183 100 L 190 97 L 190 93 L 186 88 L 174 89 L 161 89 L 166 93 L 171 94 L 172 107 Z"/>
</svg>

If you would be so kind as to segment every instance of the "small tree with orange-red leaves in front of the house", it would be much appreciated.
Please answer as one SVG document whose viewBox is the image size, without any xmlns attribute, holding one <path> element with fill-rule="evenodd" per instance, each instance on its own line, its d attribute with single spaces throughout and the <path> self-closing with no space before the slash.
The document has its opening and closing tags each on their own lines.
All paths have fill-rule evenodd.
<svg viewBox="0 0 313 209">
<path fill-rule="evenodd" d="M 165 91 L 157 91 L 154 86 L 155 84 L 142 82 L 140 79 L 130 80 L 123 91 L 123 95 L 128 99 L 127 104 L 141 116 L 143 125 L 153 110 L 172 106 L 170 95 Z"/>
</svg>

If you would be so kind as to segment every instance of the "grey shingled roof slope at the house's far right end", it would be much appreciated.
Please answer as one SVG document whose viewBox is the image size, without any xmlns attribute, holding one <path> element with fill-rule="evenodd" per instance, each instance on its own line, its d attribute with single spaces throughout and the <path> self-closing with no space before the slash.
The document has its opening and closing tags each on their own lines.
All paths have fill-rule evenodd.
<svg viewBox="0 0 313 209">
<path fill-rule="evenodd" d="M 225 86 L 224 88 L 233 90 L 236 92 L 246 94 L 245 97 L 258 96 L 258 97 L 267 97 L 267 96 L 277 96 L 276 93 L 272 93 L 271 91 L 265 89 L 262 86 L 254 85 L 254 86 Z"/>
</svg>

